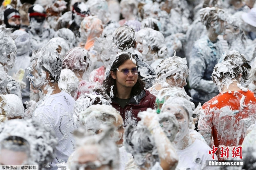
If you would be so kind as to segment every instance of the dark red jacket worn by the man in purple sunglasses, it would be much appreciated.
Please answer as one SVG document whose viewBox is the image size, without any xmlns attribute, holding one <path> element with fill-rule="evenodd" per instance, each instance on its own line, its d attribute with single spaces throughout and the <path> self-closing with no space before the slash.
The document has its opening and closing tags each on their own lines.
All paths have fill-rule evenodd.
<svg viewBox="0 0 256 170">
<path fill-rule="evenodd" d="M 154 109 L 156 96 L 144 89 L 139 95 L 132 96 L 129 104 L 124 106 L 124 108 L 116 103 L 115 98 L 112 98 L 111 101 L 111 105 L 115 107 L 123 117 L 124 126 L 128 124 L 137 125 L 137 122 L 140 121 L 140 118 L 137 118 L 138 113 L 147 110 L 147 108 Z"/>
</svg>

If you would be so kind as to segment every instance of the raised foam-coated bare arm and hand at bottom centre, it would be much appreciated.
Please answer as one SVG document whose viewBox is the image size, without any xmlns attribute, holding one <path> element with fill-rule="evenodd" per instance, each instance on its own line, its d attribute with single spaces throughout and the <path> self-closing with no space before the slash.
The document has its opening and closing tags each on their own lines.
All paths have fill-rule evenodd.
<svg viewBox="0 0 256 170">
<path fill-rule="evenodd" d="M 147 111 L 140 112 L 138 116 L 154 138 L 161 167 L 163 169 L 174 170 L 178 164 L 178 155 L 171 141 L 164 134 L 158 122 L 156 111 L 148 108 Z"/>
</svg>

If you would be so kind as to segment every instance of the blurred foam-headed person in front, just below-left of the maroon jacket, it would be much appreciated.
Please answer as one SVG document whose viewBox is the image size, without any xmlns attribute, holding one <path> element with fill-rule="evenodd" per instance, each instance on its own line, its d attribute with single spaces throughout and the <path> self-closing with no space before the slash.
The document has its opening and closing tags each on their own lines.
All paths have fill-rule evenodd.
<svg viewBox="0 0 256 170">
<path fill-rule="evenodd" d="M 119 169 L 124 170 L 125 165 L 132 155 L 125 151 L 123 146 L 124 122 L 119 112 L 109 105 L 92 105 L 79 115 L 80 128 L 85 128 L 92 133 L 99 134 L 106 128 L 113 127 L 110 133 L 110 139 L 116 142 L 119 148 L 120 166 Z"/>
</svg>

